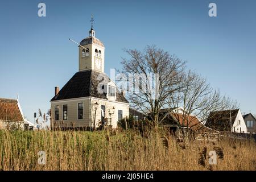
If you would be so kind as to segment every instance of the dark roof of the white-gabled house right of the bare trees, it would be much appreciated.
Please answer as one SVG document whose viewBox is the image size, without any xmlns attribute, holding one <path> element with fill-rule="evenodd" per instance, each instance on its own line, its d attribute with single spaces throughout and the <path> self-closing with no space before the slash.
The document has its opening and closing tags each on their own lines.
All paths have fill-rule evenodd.
<svg viewBox="0 0 256 182">
<path fill-rule="evenodd" d="M 205 126 L 218 131 L 230 131 L 230 112 L 231 124 L 233 126 L 236 121 L 238 111 L 239 109 L 210 112 Z"/>
</svg>

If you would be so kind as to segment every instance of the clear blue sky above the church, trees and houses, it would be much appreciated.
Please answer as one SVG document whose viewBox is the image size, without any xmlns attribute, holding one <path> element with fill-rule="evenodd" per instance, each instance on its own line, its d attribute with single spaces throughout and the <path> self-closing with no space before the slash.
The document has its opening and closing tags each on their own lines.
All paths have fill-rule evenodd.
<svg viewBox="0 0 256 182">
<path fill-rule="evenodd" d="M 38 17 L 38 3 L 47 16 Z M 208 16 L 210 2 L 217 17 Z M 50 107 L 55 86 L 78 71 L 79 42 L 94 14 L 96 36 L 105 44 L 105 72 L 121 68 L 123 48 L 156 46 L 188 61 L 256 114 L 256 1 L 1 1 L 0 97 L 19 94 L 23 113 Z"/>
</svg>

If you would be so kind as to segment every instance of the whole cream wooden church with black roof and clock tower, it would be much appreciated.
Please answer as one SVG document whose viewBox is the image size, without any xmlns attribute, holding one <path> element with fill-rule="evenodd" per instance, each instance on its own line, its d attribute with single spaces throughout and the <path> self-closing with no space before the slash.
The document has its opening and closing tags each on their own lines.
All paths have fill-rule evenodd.
<svg viewBox="0 0 256 182">
<path fill-rule="evenodd" d="M 61 90 L 55 88 L 51 129 L 116 128 L 117 121 L 129 116 L 124 92 L 104 73 L 104 50 L 91 28 L 79 44 L 79 72 Z"/>
</svg>

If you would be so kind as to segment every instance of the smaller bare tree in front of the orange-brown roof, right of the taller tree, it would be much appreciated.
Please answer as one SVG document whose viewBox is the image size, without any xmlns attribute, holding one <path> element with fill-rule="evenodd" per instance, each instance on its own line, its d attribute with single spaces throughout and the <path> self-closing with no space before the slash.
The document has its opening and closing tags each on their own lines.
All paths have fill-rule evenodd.
<svg viewBox="0 0 256 182">
<path fill-rule="evenodd" d="M 236 102 L 221 96 L 219 90 L 214 90 L 205 78 L 195 72 L 183 73 L 179 85 L 179 89 L 168 94 L 167 106 L 171 109 L 166 114 L 175 118 L 184 136 L 191 128 L 200 130 L 210 112 L 237 107 Z"/>
</svg>

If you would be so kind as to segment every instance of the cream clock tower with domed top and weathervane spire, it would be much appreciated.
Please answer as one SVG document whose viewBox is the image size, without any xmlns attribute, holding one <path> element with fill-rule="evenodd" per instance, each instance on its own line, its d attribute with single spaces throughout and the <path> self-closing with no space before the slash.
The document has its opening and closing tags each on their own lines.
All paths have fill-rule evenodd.
<svg viewBox="0 0 256 182">
<path fill-rule="evenodd" d="M 94 70 L 104 73 L 104 51 L 104 44 L 96 38 L 92 24 L 89 36 L 80 42 L 79 71 Z"/>
</svg>

